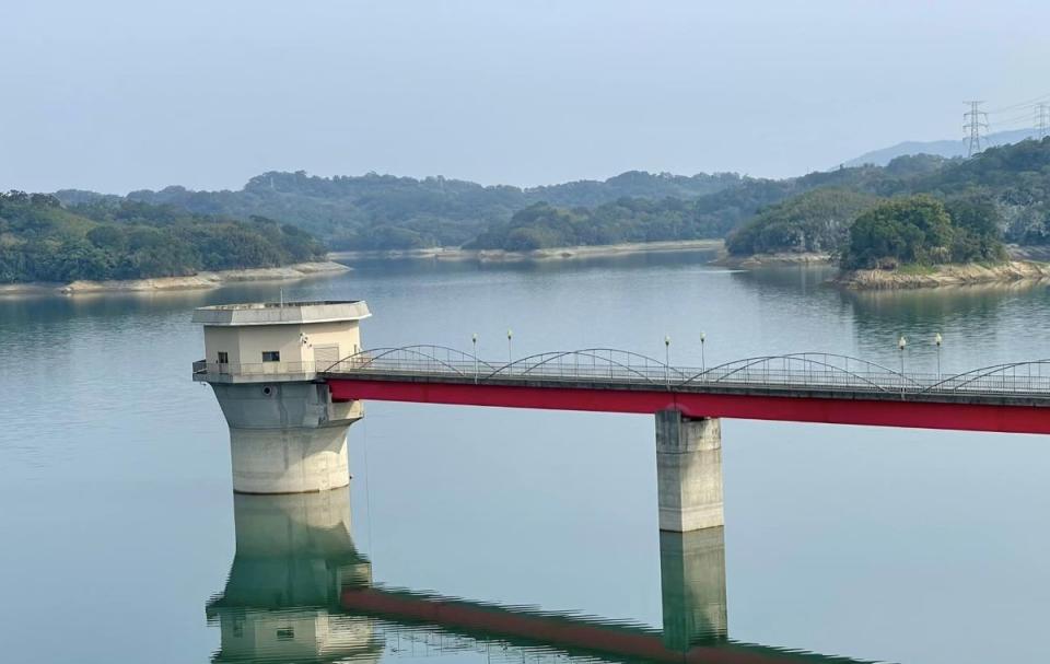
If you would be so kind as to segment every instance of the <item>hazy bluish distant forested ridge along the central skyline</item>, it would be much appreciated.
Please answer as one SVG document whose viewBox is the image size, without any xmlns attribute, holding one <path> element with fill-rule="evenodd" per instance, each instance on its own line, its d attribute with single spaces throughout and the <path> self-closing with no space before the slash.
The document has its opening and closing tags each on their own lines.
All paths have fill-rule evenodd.
<svg viewBox="0 0 1050 664">
<path fill-rule="evenodd" d="M 632 171 L 605 182 L 523 189 L 444 177 L 416 179 L 374 173 L 318 177 L 275 172 L 252 178 L 240 191 L 167 187 L 132 191 L 127 198 L 177 206 L 198 214 L 280 219 L 314 233 L 334 249 L 411 249 L 459 246 L 536 202 L 595 207 L 625 196 L 691 199 L 739 182 L 740 177 L 731 173 L 687 177 Z M 116 198 L 77 190 L 56 196 L 66 203 Z"/>
</svg>

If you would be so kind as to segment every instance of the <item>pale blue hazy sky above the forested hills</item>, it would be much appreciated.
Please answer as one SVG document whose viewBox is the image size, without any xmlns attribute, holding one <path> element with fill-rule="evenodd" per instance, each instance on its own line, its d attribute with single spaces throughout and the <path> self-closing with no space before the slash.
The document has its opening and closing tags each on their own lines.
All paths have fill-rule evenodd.
<svg viewBox="0 0 1050 664">
<path fill-rule="evenodd" d="M 0 189 L 785 176 L 1050 93 L 1045 2 L 163 4 L 5 4 Z"/>
</svg>

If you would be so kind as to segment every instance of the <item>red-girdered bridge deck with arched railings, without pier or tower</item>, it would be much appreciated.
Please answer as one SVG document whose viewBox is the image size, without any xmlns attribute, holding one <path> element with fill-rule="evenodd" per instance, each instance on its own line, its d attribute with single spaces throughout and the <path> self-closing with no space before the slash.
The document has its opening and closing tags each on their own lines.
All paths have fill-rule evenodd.
<svg viewBox="0 0 1050 664">
<path fill-rule="evenodd" d="M 711 368 L 592 348 L 492 362 L 441 346 L 360 351 L 317 375 L 338 400 L 1050 433 L 1050 360 L 905 373 L 826 352 Z"/>
</svg>

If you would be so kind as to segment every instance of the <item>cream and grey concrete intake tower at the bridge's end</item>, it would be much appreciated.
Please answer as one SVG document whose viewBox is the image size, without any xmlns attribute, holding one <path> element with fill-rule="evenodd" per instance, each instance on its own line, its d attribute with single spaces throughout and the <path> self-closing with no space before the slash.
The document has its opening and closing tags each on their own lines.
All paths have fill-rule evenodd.
<svg viewBox="0 0 1050 664">
<path fill-rule="evenodd" d="M 364 302 L 206 306 L 206 359 L 194 380 L 211 384 L 230 427 L 233 490 L 324 491 L 350 484 L 347 429 L 358 400 L 332 399 L 317 373 L 361 349 Z"/>
</svg>

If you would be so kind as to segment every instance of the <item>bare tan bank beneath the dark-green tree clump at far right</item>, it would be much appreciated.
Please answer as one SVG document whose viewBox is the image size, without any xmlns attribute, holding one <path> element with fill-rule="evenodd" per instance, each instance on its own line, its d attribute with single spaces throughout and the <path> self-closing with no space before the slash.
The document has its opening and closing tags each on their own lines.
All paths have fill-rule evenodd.
<svg viewBox="0 0 1050 664">
<path fill-rule="evenodd" d="M 942 265 L 929 271 L 849 270 L 830 283 L 852 291 L 878 291 L 1046 280 L 1050 280 L 1050 264 L 1007 260 L 995 265 Z"/>
</svg>

